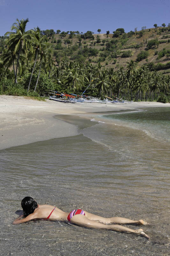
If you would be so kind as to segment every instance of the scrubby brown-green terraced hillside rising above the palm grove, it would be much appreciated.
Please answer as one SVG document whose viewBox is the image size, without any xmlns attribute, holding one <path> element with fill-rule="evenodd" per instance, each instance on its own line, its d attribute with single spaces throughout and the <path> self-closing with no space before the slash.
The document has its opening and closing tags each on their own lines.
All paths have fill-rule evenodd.
<svg viewBox="0 0 170 256">
<path fill-rule="evenodd" d="M 63 36 L 64 35 L 64 36 Z M 130 31 L 118 37 L 114 34 L 92 34 L 93 38 L 81 38 L 81 35 L 55 34 L 48 36 L 51 44 L 52 58 L 56 65 L 63 60 L 76 60 L 78 62 L 99 63 L 106 68 L 118 69 L 126 66 L 130 60 L 137 61 L 137 56 L 142 51 L 146 52 L 144 59 L 137 61 L 141 67 L 149 63 L 157 65 L 157 70 L 169 74 L 170 65 L 170 27 L 159 27 L 143 29 L 141 31 Z M 72 37 L 72 38 L 70 38 Z M 149 41 L 157 41 L 148 49 Z M 153 42 L 154 43 L 154 42 Z M 160 66 L 160 67 L 159 67 Z M 150 64 L 149 67 L 152 67 Z"/>
</svg>

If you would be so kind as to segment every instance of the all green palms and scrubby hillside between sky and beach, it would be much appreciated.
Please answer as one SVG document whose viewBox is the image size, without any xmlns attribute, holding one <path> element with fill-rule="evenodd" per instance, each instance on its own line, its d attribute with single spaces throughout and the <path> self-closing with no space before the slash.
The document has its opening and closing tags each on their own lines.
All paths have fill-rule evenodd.
<svg viewBox="0 0 170 256">
<path fill-rule="evenodd" d="M 159 40 L 156 29 L 144 27 L 142 39 L 140 31 L 125 33 L 118 28 L 114 38 L 107 31 L 100 39 L 92 31 L 26 31 L 27 22 L 17 19 L 12 32 L 0 37 L 1 94 L 46 97 L 55 90 L 81 95 L 88 87 L 86 95 L 101 99 L 169 100 L 170 50 L 164 46 L 168 41 L 162 40 L 168 35 Z M 151 56 L 155 62 L 150 62 Z"/>
</svg>

